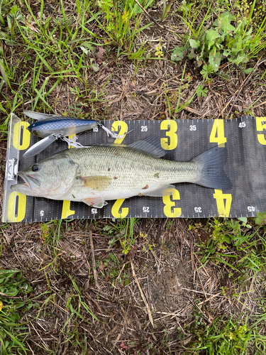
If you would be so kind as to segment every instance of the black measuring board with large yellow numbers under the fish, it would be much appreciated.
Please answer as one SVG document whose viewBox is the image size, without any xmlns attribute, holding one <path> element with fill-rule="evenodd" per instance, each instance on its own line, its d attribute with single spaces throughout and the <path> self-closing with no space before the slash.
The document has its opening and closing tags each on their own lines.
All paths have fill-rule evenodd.
<svg viewBox="0 0 266 355">
<path fill-rule="evenodd" d="M 192 183 L 175 184 L 171 197 L 131 197 L 107 201 L 105 207 L 96 209 L 82 202 L 48 200 L 12 192 L 16 183 L 6 174 L 4 190 L 4 214 L 6 222 L 39 222 L 61 218 L 119 218 L 119 217 L 255 217 L 266 210 L 266 118 L 243 116 L 238 119 L 194 119 L 164 121 L 101 121 L 108 129 L 126 134 L 116 143 L 131 144 L 150 135 L 160 137 L 167 144 L 162 159 L 187 161 L 214 146 L 226 146 L 228 160 L 225 171 L 232 182 L 228 191 L 214 190 Z M 20 125 L 14 128 L 14 126 Z M 45 151 L 32 158 L 23 153 L 38 138 L 27 130 L 27 122 L 15 115 L 9 128 L 7 161 L 18 162 L 18 170 L 48 158 L 68 148 L 58 140 Z M 100 127 L 81 133 L 78 142 L 83 146 L 96 143 L 113 143 Z M 7 166 L 9 173 L 11 167 Z M 16 170 L 16 169 L 15 169 Z M 18 182 L 22 182 L 18 178 Z"/>
</svg>

